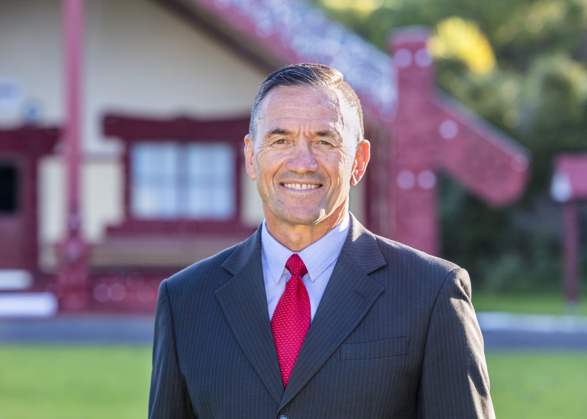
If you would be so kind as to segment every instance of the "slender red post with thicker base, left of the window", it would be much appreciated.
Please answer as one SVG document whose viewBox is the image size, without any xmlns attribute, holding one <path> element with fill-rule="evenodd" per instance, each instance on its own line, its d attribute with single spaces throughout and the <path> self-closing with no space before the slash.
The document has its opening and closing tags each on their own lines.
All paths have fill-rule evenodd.
<svg viewBox="0 0 587 419">
<path fill-rule="evenodd" d="M 60 309 L 88 305 L 87 244 L 80 235 L 80 104 L 83 43 L 83 0 L 63 0 L 66 122 L 63 150 L 68 183 L 67 236 L 59 245 Z"/>
</svg>

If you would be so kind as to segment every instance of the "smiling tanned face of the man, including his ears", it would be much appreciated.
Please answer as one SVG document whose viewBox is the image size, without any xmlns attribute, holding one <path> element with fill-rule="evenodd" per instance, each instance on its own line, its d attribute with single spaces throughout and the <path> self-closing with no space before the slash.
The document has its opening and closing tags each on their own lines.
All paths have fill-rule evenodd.
<svg viewBox="0 0 587 419">
<path fill-rule="evenodd" d="M 245 137 L 249 177 L 265 216 L 291 225 L 318 224 L 346 204 L 369 160 L 357 144 L 356 112 L 332 89 L 280 86 L 259 109 L 257 138 Z"/>
</svg>

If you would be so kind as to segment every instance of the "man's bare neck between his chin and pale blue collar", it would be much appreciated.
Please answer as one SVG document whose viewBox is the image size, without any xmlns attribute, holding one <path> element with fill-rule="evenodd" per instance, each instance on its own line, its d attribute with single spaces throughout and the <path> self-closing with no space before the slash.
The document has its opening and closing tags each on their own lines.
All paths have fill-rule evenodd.
<svg viewBox="0 0 587 419">
<path fill-rule="evenodd" d="M 265 211 L 267 231 L 274 236 L 276 241 L 292 252 L 300 252 L 335 228 L 345 218 L 348 208 L 349 199 L 346 198 L 345 202 L 336 208 L 332 214 L 311 225 L 289 224 L 276 218 L 270 211 Z"/>
</svg>

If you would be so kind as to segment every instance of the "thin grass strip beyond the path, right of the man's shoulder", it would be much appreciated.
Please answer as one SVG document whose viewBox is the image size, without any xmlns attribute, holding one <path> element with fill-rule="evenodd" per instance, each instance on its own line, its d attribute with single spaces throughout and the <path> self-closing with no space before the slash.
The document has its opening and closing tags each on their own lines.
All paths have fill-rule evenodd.
<svg viewBox="0 0 587 419">
<path fill-rule="evenodd" d="M 472 296 L 477 312 L 511 312 L 549 315 L 575 314 L 587 316 L 587 302 L 583 299 L 575 309 L 569 311 L 558 293 L 537 295 L 498 295 L 475 292 Z"/>
</svg>

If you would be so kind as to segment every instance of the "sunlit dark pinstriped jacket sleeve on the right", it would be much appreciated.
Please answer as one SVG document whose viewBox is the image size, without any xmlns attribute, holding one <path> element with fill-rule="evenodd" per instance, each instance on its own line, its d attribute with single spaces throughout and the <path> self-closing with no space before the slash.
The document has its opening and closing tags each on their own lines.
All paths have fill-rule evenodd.
<svg viewBox="0 0 587 419">
<path fill-rule="evenodd" d="M 432 309 L 417 417 L 495 419 L 471 281 L 461 268 L 448 273 Z"/>
</svg>

